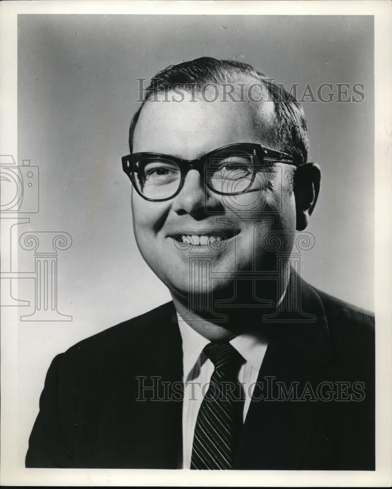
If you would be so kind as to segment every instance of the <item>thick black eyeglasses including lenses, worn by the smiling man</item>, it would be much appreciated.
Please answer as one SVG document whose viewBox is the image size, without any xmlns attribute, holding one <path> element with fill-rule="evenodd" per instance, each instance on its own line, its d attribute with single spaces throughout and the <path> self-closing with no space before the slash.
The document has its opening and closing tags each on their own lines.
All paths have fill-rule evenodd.
<svg viewBox="0 0 392 489">
<path fill-rule="evenodd" d="M 136 192 L 156 202 L 173 199 L 191 169 L 200 173 L 213 192 L 239 195 L 249 191 L 258 172 L 274 163 L 295 166 L 302 163 L 298 158 L 254 143 L 230 144 L 194 160 L 160 153 L 133 153 L 121 159 Z"/>
</svg>

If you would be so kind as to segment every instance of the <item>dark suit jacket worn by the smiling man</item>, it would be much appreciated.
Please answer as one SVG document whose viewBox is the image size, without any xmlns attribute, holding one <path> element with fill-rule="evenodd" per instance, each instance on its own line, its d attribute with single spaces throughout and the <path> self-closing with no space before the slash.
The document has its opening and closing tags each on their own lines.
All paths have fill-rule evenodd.
<svg viewBox="0 0 392 489">
<path fill-rule="evenodd" d="M 303 281 L 301 291 L 302 311 L 316 320 L 265 327 L 259 380 L 275 378 L 286 390 L 298 382 L 300 391 L 310 382 L 314 392 L 320 382 L 331 383 L 317 399 L 307 384 L 305 400 L 252 400 L 233 468 L 373 470 L 373 317 Z M 173 303 L 165 304 L 54 358 L 26 467 L 181 467 L 178 389 L 177 400 L 167 394 L 171 400 L 136 400 L 141 382 L 158 385 L 157 376 L 160 386 L 182 385 L 174 314 Z M 354 389 L 353 382 L 363 384 Z M 342 399 L 321 400 L 328 386 Z"/>
</svg>

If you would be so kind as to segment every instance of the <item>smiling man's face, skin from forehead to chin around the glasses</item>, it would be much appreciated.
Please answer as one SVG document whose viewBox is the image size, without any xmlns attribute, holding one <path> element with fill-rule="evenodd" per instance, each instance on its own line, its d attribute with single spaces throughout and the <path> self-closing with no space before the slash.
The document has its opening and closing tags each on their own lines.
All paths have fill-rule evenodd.
<svg viewBox="0 0 392 489">
<path fill-rule="evenodd" d="M 134 153 L 192 160 L 235 143 L 272 147 L 266 136 L 274 117 L 271 102 L 260 106 L 247 101 L 222 102 L 221 97 L 215 102 L 196 97 L 195 102 L 191 94 L 184 95 L 182 102 L 171 101 L 169 93 L 169 102 L 146 103 L 135 128 Z M 196 169 L 187 173 L 182 190 L 171 200 L 148 201 L 133 190 L 133 228 L 139 250 L 175 296 L 185 298 L 192 291 L 211 290 L 229 297 L 233 272 L 275 269 L 276 255 L 266 250 L 263 236 L 274 230 L 295 230 L 294 196 L 285 188 L 287 167 L 275 166 L 275 172 L 257 175 L 249 192 L 237 196 L 222 196 L 205 188 Z M 178 235 L 214 239 L 218 234 L 227 239 L 212 250 L 197 244 L 184 250 L 175 241 Z M 282 236 L 288 236 L 283 238 L 282 250 L 290 251 L 292 233 Z M 211 280 L 206 280 L 208 270 Z"/>
</svg>

